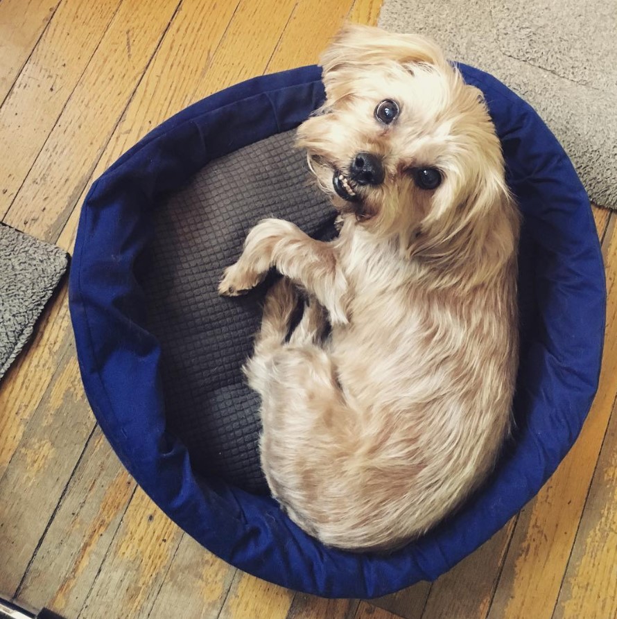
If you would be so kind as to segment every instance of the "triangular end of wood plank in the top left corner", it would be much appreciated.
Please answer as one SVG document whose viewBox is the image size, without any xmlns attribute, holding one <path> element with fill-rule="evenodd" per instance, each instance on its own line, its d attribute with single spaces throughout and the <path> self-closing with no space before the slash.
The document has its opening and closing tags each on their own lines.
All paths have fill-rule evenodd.
<svg viewBox="0 0 617 619">
<path fill-rule="evenodd" d="M 0 104 L 15 83 L 60 0 L 0 2 Z"/>
</svg>

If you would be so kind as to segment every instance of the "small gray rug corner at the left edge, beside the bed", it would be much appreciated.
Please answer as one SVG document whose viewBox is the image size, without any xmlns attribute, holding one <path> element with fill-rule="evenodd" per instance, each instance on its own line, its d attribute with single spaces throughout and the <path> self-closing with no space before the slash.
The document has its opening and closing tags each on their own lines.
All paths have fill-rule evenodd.
<svg viewBox="0 0 617 619">
<path fill-rule="evenodd" d="M 59 247 L 0 224 L 0 378 L 28 342 L 67 265 Z"/>
</svg>

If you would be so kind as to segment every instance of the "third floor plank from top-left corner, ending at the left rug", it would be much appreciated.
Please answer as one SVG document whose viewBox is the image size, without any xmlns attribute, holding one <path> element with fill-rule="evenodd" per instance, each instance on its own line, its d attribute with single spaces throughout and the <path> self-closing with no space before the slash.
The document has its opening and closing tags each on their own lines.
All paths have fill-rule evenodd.
<svg viewBox="0 0 617 619">
<path fill-rule="evenodd" d="M 46 241 L 58 237 L 179 1 L 123 0 L 13 200 L 6 223 Z"/>
</svg>

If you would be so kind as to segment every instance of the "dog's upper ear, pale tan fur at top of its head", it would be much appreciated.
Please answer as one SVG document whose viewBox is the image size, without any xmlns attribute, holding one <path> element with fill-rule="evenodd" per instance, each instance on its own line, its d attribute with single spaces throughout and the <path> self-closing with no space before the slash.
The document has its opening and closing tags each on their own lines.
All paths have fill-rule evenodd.
<svg viewBox="0 0 617 619">
<path fill-rule="evenodd" d="M 399 62 L 410 72 L 413 72 L 415 64 L 437 67 L 447 64 L 439 46 L 426 37 L 388 33 L 373 26 L 345 24 L 320 59 L 328 97 L 335 95 L 333 89 L 336 85 L 344 86 L 352 81 L 359 69 L 393 61 Z"/>
</svg>

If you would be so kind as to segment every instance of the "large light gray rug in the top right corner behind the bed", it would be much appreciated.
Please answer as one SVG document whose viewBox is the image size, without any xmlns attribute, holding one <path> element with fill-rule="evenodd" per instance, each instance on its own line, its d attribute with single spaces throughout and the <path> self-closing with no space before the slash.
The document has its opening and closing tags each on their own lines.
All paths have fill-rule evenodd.
<svg viewBox="0 0 617 619">
<path fill-rule="evenodd" d="M 530 103 L 601 206 L 617 208 L 616 0 L 385 0 L 379 25 L 421 33 Z"/>
</svg>

